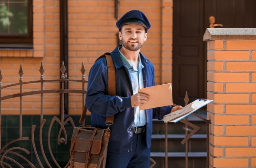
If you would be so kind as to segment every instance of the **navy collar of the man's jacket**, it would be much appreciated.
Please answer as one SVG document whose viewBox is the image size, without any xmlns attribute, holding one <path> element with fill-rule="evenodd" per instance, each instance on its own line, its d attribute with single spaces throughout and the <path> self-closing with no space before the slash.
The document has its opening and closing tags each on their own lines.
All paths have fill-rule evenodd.
<svg viewBox="0 0 256 168">
<path fill-rule="evenodd" d="M 122 67 L 124 64 L 122 58 L 120 57 L 120 54 L 119 54 L 119 51 L 118 51 L 118 47 L 120 47 L 122 45 L 119 45 L 117 46 L 111 53 L 111 57 L 114 61 L 114 65 L 116 67 L 116 69 Z M 139 55 L 140 55 L 140 59 L 141 59 L 141 62 L 142 62 L 142 65 L 145 67 L 145 61 L 149 61 L 141 52 L 139 52 Z M 144 64 L 143 64 L 144 63 Z"/>
</svg>

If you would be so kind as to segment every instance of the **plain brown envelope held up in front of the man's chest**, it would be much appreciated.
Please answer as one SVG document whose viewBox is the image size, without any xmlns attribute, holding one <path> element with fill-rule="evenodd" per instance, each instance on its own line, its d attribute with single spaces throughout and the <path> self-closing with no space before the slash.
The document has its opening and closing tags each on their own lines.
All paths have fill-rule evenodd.
<svg viewBox="0 0 256 168">
<path fill-rule="evenodd" d="M 149 100 L 139 107 L 139 110 L 172 105 L 171 83 L 138 89 L 138 92 L 150 96 Z"/>
</svg>

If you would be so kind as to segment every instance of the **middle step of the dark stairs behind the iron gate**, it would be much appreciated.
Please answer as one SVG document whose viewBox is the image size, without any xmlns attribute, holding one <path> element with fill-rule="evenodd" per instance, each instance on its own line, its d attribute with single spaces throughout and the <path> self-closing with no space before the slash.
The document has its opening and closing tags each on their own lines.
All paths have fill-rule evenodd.
<svg viewBox="0 0 256 168">
<path fill-rule="evenodd" d="M 181 141 L 185 138 L 185 134 L 169 134 L 168 152 L 185 152 L 186 145 Z M 206 134 L 194 134 L 188 140 L 189 152 L 205 152 L 206 151 Z M 165 152 L 165 135 L 153 134 L 151 140 L 151 152 Z"/>
</svg>

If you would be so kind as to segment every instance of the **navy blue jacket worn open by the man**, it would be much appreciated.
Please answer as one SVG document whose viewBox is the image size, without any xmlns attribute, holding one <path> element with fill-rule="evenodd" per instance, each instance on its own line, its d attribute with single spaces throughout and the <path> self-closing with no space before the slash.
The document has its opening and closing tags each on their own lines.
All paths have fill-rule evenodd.
<svg viewBox="0 0 256 168">
<path fill-rule="evenodd" d="M 111 135 L 108 151 L 116 153 L 131 153 L 134 122 L 134 108 L 131 106 L 132 85 L 128 69 L 122 61 L 118 48 L 111 52 L 116 67 L 116 96 L 109 96 L 107 90 L 106 58 L 99 58 L 92 66 L 87 86 L 86 105 L 91 112 L 92 127 L 107 128 L 106 116 L 115 114 L 114 124 L 110 126 Z M 140 53 L 144 87 L 155 85 L 154 67 Z M 146 110 L 147 115 L 147 146 L 151 146 L 152 119 L 163 119 L 169 114 L 171 107 L 161 107 Z"/>
</svg>

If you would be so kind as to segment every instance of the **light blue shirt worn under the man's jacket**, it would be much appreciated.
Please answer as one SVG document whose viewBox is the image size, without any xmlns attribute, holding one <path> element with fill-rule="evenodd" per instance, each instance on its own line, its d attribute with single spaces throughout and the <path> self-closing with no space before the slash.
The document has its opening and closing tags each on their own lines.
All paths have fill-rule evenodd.
<svg viewBox="0 0 256 168">
<path fill-rule="evenodd" d="M 138 61 L 138 70 L 137 67 L 133 67 L 130 62 L 126 59 L 124 54 L 119 50 L 120 57 L 122 58 L 124 64 L 127 66 L 132 83 L 132 91 L 133 94 L 138 93 L 138 89 L 144 88 L 143 85 L 143 75 L 142 75 L 142 68 L 144 66 L 141 64 L 140 56 Z M 134 124 L 133 127 L 140 127 L 144 126 L 147 123 L 147 116 L 145 110 L 139 110 L 139 107 L 134 108 Z"/>
</svg>

